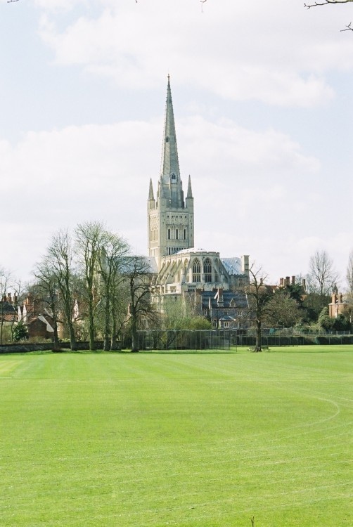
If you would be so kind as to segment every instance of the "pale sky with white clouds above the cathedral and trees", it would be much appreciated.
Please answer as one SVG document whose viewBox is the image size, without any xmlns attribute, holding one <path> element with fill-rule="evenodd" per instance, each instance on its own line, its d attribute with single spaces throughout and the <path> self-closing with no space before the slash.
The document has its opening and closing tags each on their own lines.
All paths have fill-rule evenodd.
<svg viewBox="0 0 353 527">
<path fill-rule="evenodd" d="M 0 265 L 105 221 L 146 254 L 170 74 L 195 245 L 271 282 L 353 249 L 353 4 L 0 0 Z"/>
</svg>

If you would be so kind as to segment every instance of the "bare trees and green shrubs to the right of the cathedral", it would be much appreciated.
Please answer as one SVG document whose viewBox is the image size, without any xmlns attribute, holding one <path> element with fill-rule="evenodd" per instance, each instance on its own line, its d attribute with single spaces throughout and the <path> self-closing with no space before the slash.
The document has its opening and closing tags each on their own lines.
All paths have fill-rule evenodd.
<svg viewBox="0 0 353 527">
<path fill-rule="evenodd" d="M 303 285 L 302 276 L 283 287 L 267 284 L 262 268 L 250 267 L 250 285 L 246 288 L 250 318 L 255 325 L 254 351 L 262 349 L 264 327 L 297 327 L 297 330 L 351 330 L 353 321 L 353 251 L 347 265 L 348 292 L 345 313 L 335 318 L 328 314 L 331 294 L 338 292 L 338 273 L 326 251 L 316 251 L 309 259 L 309 273 Z"/>
</svg>

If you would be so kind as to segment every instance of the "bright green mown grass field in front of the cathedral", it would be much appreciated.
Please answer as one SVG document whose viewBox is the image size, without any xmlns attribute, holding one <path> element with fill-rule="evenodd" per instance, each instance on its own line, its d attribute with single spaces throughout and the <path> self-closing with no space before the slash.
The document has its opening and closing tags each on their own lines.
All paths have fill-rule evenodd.
<svg viewBox="0 0 353 527">
<path fill-rule="evenodd" d="M 0 526 L 353 526 L 353 346 L 0 356 Z"/>
</svg>

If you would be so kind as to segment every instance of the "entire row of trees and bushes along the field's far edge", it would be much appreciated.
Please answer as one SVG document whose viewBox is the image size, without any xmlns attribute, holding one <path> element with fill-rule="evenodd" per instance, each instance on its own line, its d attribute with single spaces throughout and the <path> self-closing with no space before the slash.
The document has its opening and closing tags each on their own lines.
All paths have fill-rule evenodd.
<svg viewBox="0 0 353 527">
<path fill-rule="evenodd" d="M 256 328 L 255 349 L 261 350 L 263 327 L 297 327 L 306 329 L 348 330 L 353 318 L 353 251 L 347 265 L 348 292 L 345 295 L 345 315 L 332 319 L 327 306 L 332 292 L 338 292 L 338 273 L 327 252 L 316 251 L 309 259 L 306 286 L 302 277 L 283 287 L 267 284 L 262 269 L 250 267 L 248 319 Z M 72 350 L 77 340 L 89 340 L 95 349 L 103 340 L 104 350 L 115 350 L 118 340 L 128 336 L 132 351 L 138 351 L 137 332 L 147 327 L 167 330 L 166 347 L 176 338 L 178 330 L 211 329 L 210 322 L 200 316 L 200 306 L 186 299 L 170 297 L 162 302 L 162 314 L 157 303 L 150 301 L 150 263 L 144 256 L 131 254 L 122 236 L 110 232 L 103 223 L 82 223 L 70 233 L 60 230 L 53 235 L 41 260 L 34 268 L 34 282 L 26 294 L 46 306 L 53 327 L 54 349 L 60 348 L 60 337 L 70 339 Z M 14 291 L 12 311 L 5 313 L 6 293 Z M 0 344 L 4 330 L 11 340 L 26 337 L 27 327 L 17 322 L 23 287 L 12 280 L 11 273 L 0 268 Z M 22 294 L 22 298 L 21 298 Z M 5 300 L 4 300 L 5 297 Z M 8 304 L 8 303 L 7 303 Z M 5 324 L 6 322 L 6 324 Z M 58 330 L 60 328 L 60 332 Z M 165 337 L 167 335 L 167 337 Z M 5 335 L 8 341 L 8 335 Z"/>
</svg>

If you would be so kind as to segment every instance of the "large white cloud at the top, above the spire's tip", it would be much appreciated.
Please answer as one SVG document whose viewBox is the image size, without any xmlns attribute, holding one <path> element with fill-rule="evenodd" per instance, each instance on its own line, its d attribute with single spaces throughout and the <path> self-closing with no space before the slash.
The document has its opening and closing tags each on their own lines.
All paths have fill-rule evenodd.
<svg viewBox="0 0 353 527">
<path fill-rule="evenodd" d="M 178 82 L 225 98 L 280 106 L 325 103 L 334 96 L 326 72 L 353 65 L 352 39 L 331 32 L 323 45 L 312 18 L 296 3 L 287 2 L 284 10 L 278 0 L 271 6 L 210 2 L 205 13 L 186 0 L 173 6 L 102 1 L 98 15 L 73 18 L 65 30 L 43 16 L 40 34 L 58 63 L 81 65 L 120 86 L 153 86 L 170 70 Z"/>
</svg>

